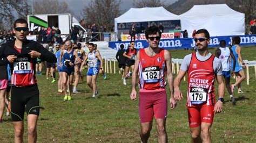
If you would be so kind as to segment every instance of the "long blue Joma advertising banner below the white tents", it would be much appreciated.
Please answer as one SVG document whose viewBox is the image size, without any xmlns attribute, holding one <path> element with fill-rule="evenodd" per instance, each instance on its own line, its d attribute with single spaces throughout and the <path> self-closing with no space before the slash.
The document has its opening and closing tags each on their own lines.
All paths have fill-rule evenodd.
<svg viewBox="0 0 256 143">
<path fill-rule="evenodd" d="M 211 42 L 208 47 L 219 47 L 219 41 L 225 40 L 227 46 L 231 44 L 232 41 L 231 36 L 221 36 L 221 37 L 211 37 Z M 249 45 L 256 45 L 256 35 L 240 35 L 241 38 L 241 46 L 249 46 Z M 130 45 L 130 41 L 116 41 L 116 42 L 109 42 L 109 47 L 113 49 L 120 49 L 120 45 L 124 45 L 126 49 Z M 146 40 L 138 40 L 135 41 L 135 47 L 137 49 L 146 48 L 149 44 Z M 182 48 L 192 48 L 195 47 L 196 43 L 194 42 L 193 38 L 180 38 L 180 39 L 163 39 L 159 42 L 159 47 L 164 49 L 182 49 Z"/>
</svg>

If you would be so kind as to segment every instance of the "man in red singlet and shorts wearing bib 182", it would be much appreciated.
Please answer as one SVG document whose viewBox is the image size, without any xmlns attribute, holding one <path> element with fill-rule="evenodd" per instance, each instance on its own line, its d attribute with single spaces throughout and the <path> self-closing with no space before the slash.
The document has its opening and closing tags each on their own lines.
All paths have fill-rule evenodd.
<svg viewBox="0 0 256 143">
<path fill-rule="evenodd" d="M 147 142 L 150 137 L 153 116 L 156 119 L 158 142 L 167 142 L 165 123 L 167 117 L 167 100 L 165 74 L 171 93 L 171 108 L 175 108 L 173 98 L 173 75 L 170 52 L 158 47 L 161 32 L 157 26 L 150 26 L 145 31 L 149 47 L 137 53 L 132 73 L 132 90 L 130 98 L 136 100 L 136 79 L 139 71 L 139 118 L 140 138 Z"/>
</svg>

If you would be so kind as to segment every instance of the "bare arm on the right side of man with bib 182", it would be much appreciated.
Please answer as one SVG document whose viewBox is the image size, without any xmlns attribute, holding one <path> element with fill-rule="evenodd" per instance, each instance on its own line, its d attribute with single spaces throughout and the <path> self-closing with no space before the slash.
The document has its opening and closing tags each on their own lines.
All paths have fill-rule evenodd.
<svg viewBox="0 0 256 143">
<path fill-rule="evenodd" d="M 172 74 L 172 58 L 171 58 L 171 53 L 167 50 L 164 51 L 164 58 L 165 58 L 165 63 L 166 63 L 166 69 L 167 69 L 167 80 L 169 83 L 169 88 L 170 88 L 170 104 L 171 104 L 171 109 L 174 109 L 176 107 L 176 100 L 173 97 L 173 74 Z"/>
</svg>

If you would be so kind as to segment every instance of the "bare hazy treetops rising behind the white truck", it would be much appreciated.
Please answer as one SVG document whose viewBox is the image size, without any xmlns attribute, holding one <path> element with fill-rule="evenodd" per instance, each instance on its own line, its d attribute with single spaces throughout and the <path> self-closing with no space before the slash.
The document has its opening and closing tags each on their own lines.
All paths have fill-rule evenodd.
<svg viewBox="0 0 256 143">
<path fill-rule="evenodd" d="M 44 0 L 33 3 L 34 14 L 72 13 L 68 3 L 58 0 Z"/>
</svg>

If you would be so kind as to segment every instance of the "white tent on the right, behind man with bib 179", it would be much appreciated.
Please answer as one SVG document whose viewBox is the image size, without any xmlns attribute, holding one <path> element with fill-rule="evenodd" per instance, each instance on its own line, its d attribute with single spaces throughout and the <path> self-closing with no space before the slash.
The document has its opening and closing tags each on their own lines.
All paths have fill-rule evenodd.
<svg viewBox="0 0 256 143">
<path fill-rule="evenodd" d="M 187 30 L 188 37 L 201 28 L 208 30 L 210 36 L 245 34 L 245 14 L 226 4 L 194 5 L 179 18 L 181 30 Z"/>
</svg>

